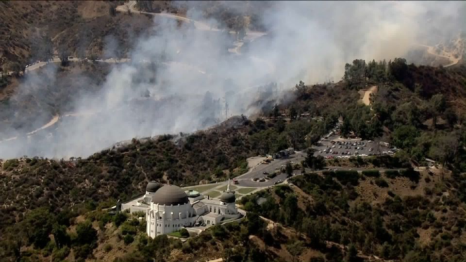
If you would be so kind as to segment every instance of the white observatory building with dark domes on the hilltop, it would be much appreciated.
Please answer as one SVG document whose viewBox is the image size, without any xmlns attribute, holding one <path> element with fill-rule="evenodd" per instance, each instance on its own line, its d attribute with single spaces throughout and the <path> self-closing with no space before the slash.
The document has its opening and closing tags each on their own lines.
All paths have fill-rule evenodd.
<svg viewBox="0 0 466 262">
<path fill-rule="evenodd" d="M 154 238 L 182 228 L 213 226 L 241 216 L 235 206 L 234 191 L 227 190 L 218 198 L 204 197 L 197 191 L 183 191 L 176 185 L 161 185 L 150 181 L 146 194 L 122 205 L 131 213 L 146 213 L 147 234 Z"/>
</svg>

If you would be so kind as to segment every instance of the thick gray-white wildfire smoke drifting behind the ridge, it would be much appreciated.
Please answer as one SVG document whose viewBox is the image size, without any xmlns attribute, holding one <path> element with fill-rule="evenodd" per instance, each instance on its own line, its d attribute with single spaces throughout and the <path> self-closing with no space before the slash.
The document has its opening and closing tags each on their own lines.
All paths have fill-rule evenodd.
<svg viewBox="0 0 466 262">
<path fill-rule="evenodd" d="M 201 20 L 200 3 L 189 4 L 188 16 Z M 247 13 L 237 1 L 221 4 Z M 210 31 L 222 24 L 213 18 L 201 21 L 207 26 L 179 28 L 176 20 L 155 16 L 157 33 L 132 41 L 131 61 L 111 65 L 104 83 L 79 73 L 68 81 L 95 88 L 73 91 L 35 124 L 1 126 L 0 140 L 17 139 L 0 143 L 0 157 L 85 157 L 133 137 L 193 132 L 231 115 L 251 115 L 283 99 L 300 80 L 338 81 L 354 59 L 390 60 L 417 43 L 448 39 L 465 30 L 465 10 L 460 1 L 272 1 L 260 10 L 267 32 L 249 32 L 240 42 L 236 34 Z M 115 38 L 104 40 L 105 55 L 117 56 Z M 30 99 L 27 94 L 56 83 L 57 67 L 49 70 L 48 78 L 29 73 L 14 99 Z M 57 123 L 28 137 L 31 126 L 54 115 L 60 115 Z"/>
</svg>

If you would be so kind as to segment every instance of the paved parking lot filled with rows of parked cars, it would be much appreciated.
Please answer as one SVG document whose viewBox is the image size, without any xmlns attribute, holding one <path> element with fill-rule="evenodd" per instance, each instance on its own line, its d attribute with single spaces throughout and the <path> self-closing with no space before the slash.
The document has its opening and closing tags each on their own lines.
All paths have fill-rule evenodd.
<svg viewBox="0 0 466 262">
<path fill-rule="evenodd" d="M 344 139 L 339 135 L 322 139 L 314 149 L 316 149 L 314 155 L 321 155 L 327 159 L 395 153 L 394 150 L 389 148 L 379 147 L 377 143 L 371 140 Z"/>
</svg>

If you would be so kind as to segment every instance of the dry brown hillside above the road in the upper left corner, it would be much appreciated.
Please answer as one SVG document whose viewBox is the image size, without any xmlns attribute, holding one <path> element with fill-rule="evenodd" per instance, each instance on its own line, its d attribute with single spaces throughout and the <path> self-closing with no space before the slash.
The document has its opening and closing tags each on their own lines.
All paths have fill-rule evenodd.
<svg viewBox="0 0 466 262">
<path fill-rule="evenodd" d="M 151 17 L 111 12 L 123 1 L 2 1 L 0 3 L 0 64 L 31 63 L 49 49 L 71 55 L 103 54 L 108 37 L 121 49 L 145 33 Z M 129 35 L 131 33 L 131 35 Z M 147 33 L 147 32 L 146 32 Z M 45 59 L 41 59 L 45 60 Z"/>
</svg>

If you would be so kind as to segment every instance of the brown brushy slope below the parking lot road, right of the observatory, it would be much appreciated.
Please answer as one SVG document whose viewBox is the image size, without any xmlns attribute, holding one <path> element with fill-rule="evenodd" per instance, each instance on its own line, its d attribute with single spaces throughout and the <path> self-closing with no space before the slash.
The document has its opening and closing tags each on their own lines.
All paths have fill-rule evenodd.
<svg viewBox="0 0 466 262">
<path fill-rule="evenodd" d="M 438 170 L 415 171 L 409 177 L 399 177 L 398 172 L 361 176 L 342 171 L 308 174 L 290 182 L 241 202 L 246 210 L 309 237 L 309 246 L 298 255 L 310 247 L 321 252 L 322 261 L 357 261 L 348 258 L 351 248 L 358 250 L 360 259 L 371 261 L 458 261 L 463 256 L 463 175 Z M 265 198 L 260 205 L 259 197 Z M 348 249 L 332 252 L 328 242 Z"/>
</svg>

